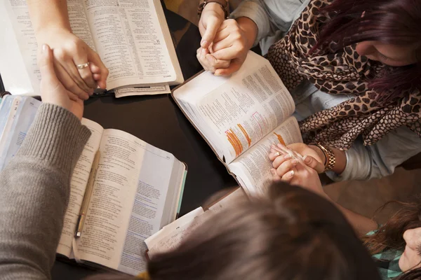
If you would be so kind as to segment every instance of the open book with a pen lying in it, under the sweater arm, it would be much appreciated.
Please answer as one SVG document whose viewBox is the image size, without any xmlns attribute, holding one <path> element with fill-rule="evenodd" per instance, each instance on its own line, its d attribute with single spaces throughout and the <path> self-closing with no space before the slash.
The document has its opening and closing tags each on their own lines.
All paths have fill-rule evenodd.
<svg viewBox="0 0 421 280">
<path fill-rule="evenodd" d="M 39 104 L 21 96 L 1 102 L 1 169 L 18 151 Z M 91 120 L 82 123 L 92 135 L 72 175 L 57 253 L 88 265 L 138 274 L 145 269 L 143 240 L 175 221 L 180 211 L 187 167 L 171 153 L 131 134 L 104 130 Z M 89 183 L 93 185 L 86 220 L 81 237 L 74 239 Z"/>
</svg>

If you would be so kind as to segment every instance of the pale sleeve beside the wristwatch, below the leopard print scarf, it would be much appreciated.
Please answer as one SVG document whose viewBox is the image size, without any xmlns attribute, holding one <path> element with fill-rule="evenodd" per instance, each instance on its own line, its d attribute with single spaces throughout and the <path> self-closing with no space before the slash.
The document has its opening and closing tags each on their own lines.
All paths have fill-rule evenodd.
<svg viewBox="0 0 421 280">
<path fill-rule="evenodd" d="M 345 152 L 347 166 L 338 175 L 326 174 L 333 181 L 368 180 L 393 174 L 394 169 L 421 153 L 421 139 L 407 127 L 399 127 L 372 146 L 364 146 L 361 137 Z"/>
</svg>

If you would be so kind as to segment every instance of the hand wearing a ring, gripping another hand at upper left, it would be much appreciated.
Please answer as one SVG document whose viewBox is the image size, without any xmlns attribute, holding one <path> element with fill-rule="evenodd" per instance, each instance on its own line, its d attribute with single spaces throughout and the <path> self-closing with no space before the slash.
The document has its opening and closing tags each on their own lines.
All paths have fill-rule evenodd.
<svg viewBox="0 0 421 280">
<path fill-rule="evenodd" d="M 108 69 L 99 55 L 89 48 L 72 31 L 66 28 L 51 27 L 36 33 L 38 44 L 47 44 L 53 50 L 53 64 L 58 79 L 70 96 L 88 99 L 95 88 L 107 87 Z M 78 69 L 76 65 L 89 62 L 89 66 Z"/>
</svg>

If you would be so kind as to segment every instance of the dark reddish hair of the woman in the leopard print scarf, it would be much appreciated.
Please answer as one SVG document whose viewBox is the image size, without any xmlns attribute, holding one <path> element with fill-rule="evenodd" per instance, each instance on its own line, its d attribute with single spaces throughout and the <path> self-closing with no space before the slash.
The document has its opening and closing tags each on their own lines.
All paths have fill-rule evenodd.
<svg viewBox="0 0 421 280">
<path fill-rule="evenodd" d="M 408 90 L 421 90 L 420 0 L 335 0 L 323 12 L 331 15 L 332 20 L 322 27 L 312 52 L 325 50 L 332 41 L 338 42 L 338 50 L 361 41 L 413 46 L 417 63 L 388 66 L 380 77 L 371 78 L 368 85 L 380 93 L 377 101 L 382 103 L 403 97 Z"/>
</svg>

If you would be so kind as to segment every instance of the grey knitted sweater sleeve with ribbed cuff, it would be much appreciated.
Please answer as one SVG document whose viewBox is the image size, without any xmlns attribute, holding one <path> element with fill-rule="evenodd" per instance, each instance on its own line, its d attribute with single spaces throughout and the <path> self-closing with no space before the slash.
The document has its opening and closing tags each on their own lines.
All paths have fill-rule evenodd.
<svg viewBox="0 0 421 280">
<path fill-rule="evenodd" d="M 91 132 L 42 104 L 20 151 L 0 173 L 0 279 L 50 279 L 72 171 Z"/>
</svg>

